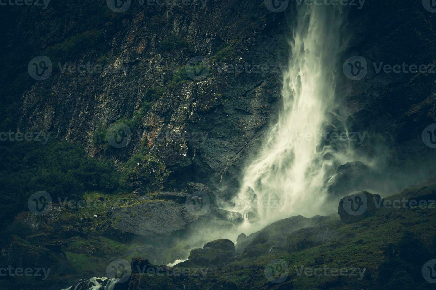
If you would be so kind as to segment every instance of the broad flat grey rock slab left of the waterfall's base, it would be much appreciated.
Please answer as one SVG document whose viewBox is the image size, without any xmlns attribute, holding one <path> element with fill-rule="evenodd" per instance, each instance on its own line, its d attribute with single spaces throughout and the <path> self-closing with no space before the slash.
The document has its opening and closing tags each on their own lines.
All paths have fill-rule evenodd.
<svg viewBox="0 0 436 290">
<path fill-rule="evenodd" d="M 148 200 L 147 198 L 170 200 Z M 105 237 L 128 241 L 134 236 L 142 236 L 150 241 L 169 242 L 198 227 L 233 230 L 235 225 L 218 218 L 215 208 L 204 204 L 204 210 L 198 210 L 185 203 L 187 193 L 156 193 L 140 198 L 129 206 L 114 207 L 109 210 Z"/>
</svg>

